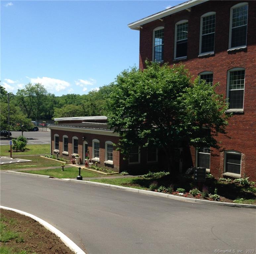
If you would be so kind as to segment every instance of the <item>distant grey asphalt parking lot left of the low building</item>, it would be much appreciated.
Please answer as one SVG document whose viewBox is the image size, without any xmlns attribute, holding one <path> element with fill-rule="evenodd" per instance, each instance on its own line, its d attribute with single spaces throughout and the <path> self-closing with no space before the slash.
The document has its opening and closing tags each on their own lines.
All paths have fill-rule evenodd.
<svg viewBox="0 0 256 254">
<path fill-rule="evenodd" d="M 22 135 L 21 131 L 12 131 L 12 138 L 17 138 Z M 23 132 L 23 136 L 26 137 L 27 144 L 50 144 L 51 140 L 51 132 L 47 128 L 47 131 L 45 131 L 45 128 L 39 127 L 39 131 L 28 131 Z M 10 139 L 1 137 L 0 139 L 0 145 L 7 145 L 10 144 Z"/>
</svg>

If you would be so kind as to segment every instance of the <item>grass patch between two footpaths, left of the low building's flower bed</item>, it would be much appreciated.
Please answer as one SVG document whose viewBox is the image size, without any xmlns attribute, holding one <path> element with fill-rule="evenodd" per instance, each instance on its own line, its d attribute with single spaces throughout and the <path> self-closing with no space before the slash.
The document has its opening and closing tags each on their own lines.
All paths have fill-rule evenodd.
<svg viewBox="0 0 256 254">
<path fill-rule="evenodd" d="M 13 157 L 15 157 L 15 156 L 13 156 Z M 17 156 L 17 157 L 19 157 L 19 156 Z M 25 160 L 32 160 L 32 161 L 2 164 L 0 166 L 1 170 L 14 170 L 14 169 L 26 169 L 26 168 L 47 168 L 47 167 L 60 166 L 62 163 L 62 162 L 57 162 L 54 160 L 48 160 L 48 159 L 42 158 L 39 155 L 22 156 L 20 158 L 25 159 Z M 60 166 L 60 168 L 61 168 L 61 166 Z"/>
</svg>

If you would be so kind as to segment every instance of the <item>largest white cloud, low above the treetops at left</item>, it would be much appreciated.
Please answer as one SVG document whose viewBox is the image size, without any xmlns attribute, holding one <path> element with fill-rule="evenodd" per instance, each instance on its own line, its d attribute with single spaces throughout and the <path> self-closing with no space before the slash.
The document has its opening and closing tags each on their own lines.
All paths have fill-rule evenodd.
<svg viewBox="0 0 256 254">
<path fill-rule="evenodd" d="M 50 93 L 53 93 L 56 91 L 60 92 L 70 87 L 69 82 L 61 79 L 48 78 L 48 77 L 42 77 L 42 78 L 37 77 L 37 78 L 29 78 L 29 79 L 32 84 L 34 83 L 42 84 L 47 90 L 47 92 L 50 92 Z"/>
</svg>

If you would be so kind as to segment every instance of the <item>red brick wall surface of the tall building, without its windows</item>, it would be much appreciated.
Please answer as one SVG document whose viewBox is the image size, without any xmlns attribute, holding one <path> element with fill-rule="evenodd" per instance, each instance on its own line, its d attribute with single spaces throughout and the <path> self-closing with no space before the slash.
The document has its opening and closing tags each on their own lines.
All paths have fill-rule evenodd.
<svg viewBox="0 0 256 254">
<path fill-rule="evenodd" d="M 213 72 L 213 83 L 220 83 L 216 91 L 227 96 L 228 70 L 236 67 L 245 69 L 243 112 L 233 113 L 227 127 L 227 136 L 219 135 L 218 141 L 224 151 L 234 150 L 241 154 L 241 177 L 256 181 L 256 2 L 248 2 L 247 47 L 229 51 L 230 8 L 244 1 L 208 1 L 193 6 L 189 10 L 163 17 L 141 25 L 139 67 L 145 67 L 145 60 L 152 60 L 153 29 L 164 26 L 163 60 L 170 64 L 182 62 L 195 78 L 203 71 Z M 211 56 L 199 57 L 199 37 L 201 16 L 207 12 L 216 12 L 215 47 Z M 188 20 L 187 58 L 174 60 L 175 24 Z M 213 150 L 210 158 L 210 172 L 223 177 L 225 152 Z M 195 165 L 195 149 L 187 154 L 188 161 Z M 183 163 L 188 166 L 188 163 Z M 184 169 L 185 170 L 185 169 Z"/>
</svg>

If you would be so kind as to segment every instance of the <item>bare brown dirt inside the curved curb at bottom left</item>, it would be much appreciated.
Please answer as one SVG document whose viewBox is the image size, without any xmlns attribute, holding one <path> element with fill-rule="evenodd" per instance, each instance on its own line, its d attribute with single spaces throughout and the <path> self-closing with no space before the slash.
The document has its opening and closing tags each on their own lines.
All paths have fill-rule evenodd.
<svg viewBox="0 0 256 254">
<path fill-rule="evenodd" d="M 74 254 L 58 236 L 48 231 L 37 221 L 13 211 L 0 209 L 1 224 L 10 231 L 17 232 L 19 237 L 0 246 L 12 248 L 13 252 L 26 251 L 27 254 Z"/>
</svg>

